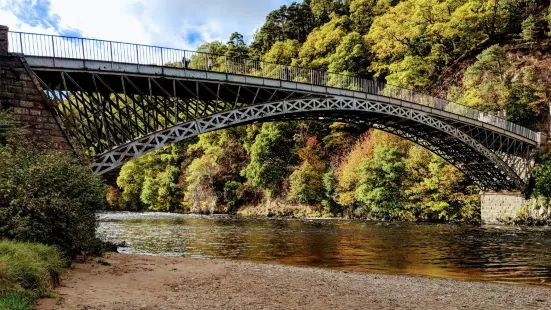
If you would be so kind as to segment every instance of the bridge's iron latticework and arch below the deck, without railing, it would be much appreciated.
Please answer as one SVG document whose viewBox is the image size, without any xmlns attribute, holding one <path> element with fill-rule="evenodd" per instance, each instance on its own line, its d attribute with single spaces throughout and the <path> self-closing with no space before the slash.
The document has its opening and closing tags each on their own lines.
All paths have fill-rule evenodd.
<svg viewBox="0 0 551 310">
<path fill-rule="evenodd" d="M 396 134 L 441 156 L 483 189 L 523 189 L 537 151 L 506 133 L 389 102 L 213 81 L 56 74 L 39 80 L 98 174 L 201 133 L 277 120 L 345 121 Z"/>
</svg>

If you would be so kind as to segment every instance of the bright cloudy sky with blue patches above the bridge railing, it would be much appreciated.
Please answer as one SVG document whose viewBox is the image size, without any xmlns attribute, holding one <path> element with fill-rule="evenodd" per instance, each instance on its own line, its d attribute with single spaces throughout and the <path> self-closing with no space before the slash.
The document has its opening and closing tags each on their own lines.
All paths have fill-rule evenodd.
<svg viewBox="0 0 551 310">
<path fill-rule="evenodd" d="M 266 15 L 291 0 L 0 0 L 12 31 L 195 49 L 237 31 L 251 42 Z"/>
</svg>

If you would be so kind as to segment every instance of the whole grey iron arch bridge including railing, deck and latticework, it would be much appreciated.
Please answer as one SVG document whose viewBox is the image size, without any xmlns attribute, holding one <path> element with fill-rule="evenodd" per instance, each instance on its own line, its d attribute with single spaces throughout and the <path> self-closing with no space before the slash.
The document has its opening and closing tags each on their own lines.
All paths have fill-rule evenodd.
<svg viewBox="0 0 551 310">
<path fill-rule="evenodd" d="M 9 40 L 97 174 L 209 131 L 324 120 L 411 140 L 483 190 L 525 190 L 545 139 L 482 111 L 357 77 L 83 38 L 10 32 Z"/>
</svg>

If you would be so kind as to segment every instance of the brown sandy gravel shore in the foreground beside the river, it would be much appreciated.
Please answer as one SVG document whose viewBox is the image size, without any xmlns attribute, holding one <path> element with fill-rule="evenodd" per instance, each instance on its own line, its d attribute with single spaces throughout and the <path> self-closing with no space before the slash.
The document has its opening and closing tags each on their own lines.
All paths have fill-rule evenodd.
<svg viewBox="0 0 551 310">
<path fill-rule="evenodd" d="M 551 309 L 551 289 L 226 260 L 108 254 L 38 309 Z"/>
</svg>

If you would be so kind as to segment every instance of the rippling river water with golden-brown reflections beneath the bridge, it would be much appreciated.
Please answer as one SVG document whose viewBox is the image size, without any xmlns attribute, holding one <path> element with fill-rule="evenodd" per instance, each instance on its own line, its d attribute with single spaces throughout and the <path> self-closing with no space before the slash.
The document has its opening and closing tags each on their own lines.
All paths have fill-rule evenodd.
<svg viewBox="0 0 551 310">
<path fill-rule="evenodd" d="M 107 213 L 122 253 L 551 286 L 551 228 Z"/>
</svg>

